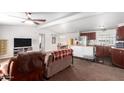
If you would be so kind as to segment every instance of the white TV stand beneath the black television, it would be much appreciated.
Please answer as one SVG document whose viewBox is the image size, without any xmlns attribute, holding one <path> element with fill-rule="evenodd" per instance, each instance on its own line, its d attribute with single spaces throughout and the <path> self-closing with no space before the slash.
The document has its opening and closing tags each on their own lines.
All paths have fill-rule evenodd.
<svg viewBox="0 0 124 93">
<path fill-rule="evenodd" d="M 18 53 L 27 52 L 27 51 L 31 51 L 31 50 L 32 50 L 32 46 L 29 46 L 29 47 L 14 47 L 14 56 L 17 56 Z"/>
</svg>

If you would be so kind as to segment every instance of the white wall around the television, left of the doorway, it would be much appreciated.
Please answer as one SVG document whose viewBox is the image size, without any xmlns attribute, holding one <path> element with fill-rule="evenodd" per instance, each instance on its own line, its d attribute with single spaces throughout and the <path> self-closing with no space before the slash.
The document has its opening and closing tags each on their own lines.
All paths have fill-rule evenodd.
<svg viewBox="0 0 124 93">
<path fill-rule="evenodd" d="M 7 39 L 7 54 L 1 58 L 13 56 L 14 38 L 32 38 L 33 50 L 39 49 L 39 36 L 35 27 L 30 26 L 0 26 L 0 39 Z"/>
</svg>

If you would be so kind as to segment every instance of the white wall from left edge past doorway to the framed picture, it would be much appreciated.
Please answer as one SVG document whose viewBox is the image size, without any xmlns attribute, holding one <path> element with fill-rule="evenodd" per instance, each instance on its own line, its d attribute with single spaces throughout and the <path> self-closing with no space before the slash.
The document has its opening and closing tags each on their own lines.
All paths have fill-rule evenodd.
<svg viewBox="0 0 124 93">
<path fill-rule="evenodd" d="M 47 32 L 47 33 L 46 33 Z M 31 26 L 0 26 L 0 39 L 7 39 L 7 54 L 0 55 L 1 58 L 13 56 L 14 38 L 32 38 L 33 51 L 39 50 L 39 34 L 45 34 L 45 51 L 57 49 L 58 36 L 56 35 L 56 44 L 52 44 L 52 31 L 42 31 Z"/>
</svg>

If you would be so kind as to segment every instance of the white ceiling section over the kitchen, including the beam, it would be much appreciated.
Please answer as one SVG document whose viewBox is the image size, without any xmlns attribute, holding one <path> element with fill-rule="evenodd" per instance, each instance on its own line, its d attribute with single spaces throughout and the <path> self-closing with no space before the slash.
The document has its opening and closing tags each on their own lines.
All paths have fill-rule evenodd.
<svg viewBox="0 0 124 93">
<path fill-rule="evenodd" d="M 74 18 L 74 16 L 78 15 Z M 66 20 L 65 23 L 54 24 L 42 29 L 49 29 L 56 33 L 80 32 L 116 28 L 118 24 L 124 23 L 124 12 L 104 12 L 104 13 L 79 13 L 73 16 L 73 20 Z M 86 15 L 86 16 L 84 16 Z"/>
</svg>

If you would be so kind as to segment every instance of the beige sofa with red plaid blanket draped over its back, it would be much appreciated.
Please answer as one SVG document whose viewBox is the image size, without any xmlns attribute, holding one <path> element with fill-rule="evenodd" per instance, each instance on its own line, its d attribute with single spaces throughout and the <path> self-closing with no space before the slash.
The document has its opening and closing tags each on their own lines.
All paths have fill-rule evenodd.
<svg viewBox="0 0 124 93">
<path fill-rule="evenodd" d="M 64 70 L 73 63 L 72 49 L 57 50 L 49 53 L 46 62 L 46 78 Z"/>
</svg>

